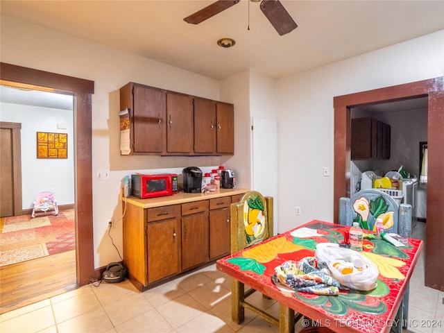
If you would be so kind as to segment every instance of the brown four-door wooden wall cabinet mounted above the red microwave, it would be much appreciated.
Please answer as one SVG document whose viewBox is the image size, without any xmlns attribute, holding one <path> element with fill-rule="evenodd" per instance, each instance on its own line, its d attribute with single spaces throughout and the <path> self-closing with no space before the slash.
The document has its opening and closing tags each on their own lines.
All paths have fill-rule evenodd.
<svg viewBox="0 0 444 333">
<path fill-rule="evenodd" d="M 234 155 L 232 104 L 128 83 L 120 89 L 125 109 L 131 155 Z"/>
</svg>

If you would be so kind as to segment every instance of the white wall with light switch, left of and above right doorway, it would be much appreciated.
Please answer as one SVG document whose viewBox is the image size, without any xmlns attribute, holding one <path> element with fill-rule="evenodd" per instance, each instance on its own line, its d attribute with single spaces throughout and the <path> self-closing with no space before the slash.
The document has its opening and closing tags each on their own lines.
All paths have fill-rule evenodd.
<svg viewBox="0 0 444 333">
<path fill-rule="evenodd" d="M 323 177 L 323 167 L 333 175 L 334 96 L 443 75 L 439 31 L 278 80 L 278 230 L 333 221 L 333 177 Z"/>
</svg>

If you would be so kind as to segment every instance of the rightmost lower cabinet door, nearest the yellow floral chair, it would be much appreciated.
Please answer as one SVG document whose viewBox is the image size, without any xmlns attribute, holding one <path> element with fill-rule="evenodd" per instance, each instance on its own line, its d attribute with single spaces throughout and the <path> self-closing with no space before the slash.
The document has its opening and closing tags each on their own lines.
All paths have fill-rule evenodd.
<svg viewBox="0 0 444 333">
<path fill-rule="evenodd" d="M 210 210 L 210 259 L 230 254 L 230 208 Z"/>
</svg>

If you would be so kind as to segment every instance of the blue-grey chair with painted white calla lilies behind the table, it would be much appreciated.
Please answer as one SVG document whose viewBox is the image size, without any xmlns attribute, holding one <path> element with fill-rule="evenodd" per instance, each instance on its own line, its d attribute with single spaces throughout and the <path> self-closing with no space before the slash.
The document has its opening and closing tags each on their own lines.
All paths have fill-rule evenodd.
<svg viewBox="0 0 444 333">
<path fill-rule="evenodd" d="M 411 205 L 397 200 L 378 189 L 364 189 L 350 198 L 339 199 L 339 224 L 352 225 L 358 222 L 361 228 L 376 231 L 376 219 L 382 219 L 384 232 L 393 232 L 402 237 L 411 237 Z M 398 318 L 403 325 L 409 314 L 409 287 L 404 293 Z M 405 327 L 404 327 L 405 328 Z"/>
</svg>

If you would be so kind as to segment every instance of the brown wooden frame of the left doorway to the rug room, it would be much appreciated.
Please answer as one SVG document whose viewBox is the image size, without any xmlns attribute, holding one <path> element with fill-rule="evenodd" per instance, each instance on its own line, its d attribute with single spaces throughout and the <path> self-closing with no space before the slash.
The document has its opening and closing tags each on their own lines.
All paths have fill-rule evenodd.
<svg viewBox="0 0 444 333">
<path fill-rule="evenodd" d="M 94 81 L 0 62 L 2 84 L 72 94 L 74 103 L 76 275 L 80 286 L 98 277 L 94 271 L 92 221 L 92 94 Z"/>
</svg>

